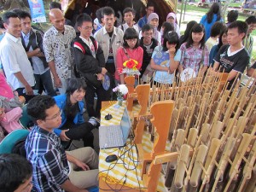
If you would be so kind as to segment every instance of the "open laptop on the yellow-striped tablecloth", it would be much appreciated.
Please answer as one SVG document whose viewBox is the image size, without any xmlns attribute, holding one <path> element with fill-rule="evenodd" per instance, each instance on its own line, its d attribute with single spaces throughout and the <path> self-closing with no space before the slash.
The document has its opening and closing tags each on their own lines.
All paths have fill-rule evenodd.
<svg viewBox="0 0 256 192">
<path fill-rule="evenodd" d="M 127 108 L 125 108 L 119 125 L 99 127 L 100 148 L 118 148 L 125 146 L 130 130 L 131 119 Z"/>
</svg>

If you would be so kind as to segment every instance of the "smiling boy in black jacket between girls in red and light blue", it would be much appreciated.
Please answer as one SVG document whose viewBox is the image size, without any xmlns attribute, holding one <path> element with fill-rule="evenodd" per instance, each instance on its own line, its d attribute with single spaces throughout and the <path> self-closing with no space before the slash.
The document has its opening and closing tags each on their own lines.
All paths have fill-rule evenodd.
<svg viewBox="0 0 256 192">
<path fill-rule="evenodd" d="M 143 78 L 144 82 L 148 82 L 148 78 L 153 75 L 153 69 L 151 69 L 149 62 L 153 54 L 154 48 L 158 45 L 158 41 L 153 38 L 154 28 L 153 26 L 146 24 L 142 28 L 143 37 L 140 39 L 140 46 L 143 48 L 143 65 L 140 78 Z"/>
</svg>

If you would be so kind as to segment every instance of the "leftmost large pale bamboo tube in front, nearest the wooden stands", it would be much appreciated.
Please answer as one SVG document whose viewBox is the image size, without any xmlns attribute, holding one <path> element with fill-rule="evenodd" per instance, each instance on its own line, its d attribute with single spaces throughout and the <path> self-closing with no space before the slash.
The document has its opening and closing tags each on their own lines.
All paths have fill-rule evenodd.
<svg viewBox="0 0 256 192">
<path fill-rule="evenodd" d="M 174 185 L 177 187 L 177 189 L 183 188 L 183 179 L 185 172 L 187 172 L 187 165 L 189 164 L 189 150 L 189 145 L 182 145 L 177 161 L 177 170 L 174 177 Z"/>
</svg>

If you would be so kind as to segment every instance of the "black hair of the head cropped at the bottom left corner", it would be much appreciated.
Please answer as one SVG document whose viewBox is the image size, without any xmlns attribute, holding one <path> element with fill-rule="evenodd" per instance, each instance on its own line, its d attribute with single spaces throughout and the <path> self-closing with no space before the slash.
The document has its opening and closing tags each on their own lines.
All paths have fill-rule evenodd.
<svg viewBox="0 0 256 192">
<path fill-rule="evenodd" d="M 32 177 L 32 164 L 19 154 L 0 154 L 1 192 L 14 192 Z"/>
</svg>

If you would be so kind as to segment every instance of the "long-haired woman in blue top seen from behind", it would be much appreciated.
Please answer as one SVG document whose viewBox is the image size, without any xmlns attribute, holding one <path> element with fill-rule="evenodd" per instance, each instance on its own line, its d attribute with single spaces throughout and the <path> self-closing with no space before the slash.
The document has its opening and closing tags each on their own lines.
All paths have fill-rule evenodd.
<svg viewBox="0 0 256 192">
<path fill-rule="evenodd" d="M 221 18 L 220 15 L 220 7 L 218 3 L 213 3 L 212 7 L 207 12 L 207 14 L 204 15 L 200 20 L 200 24 L 203 25 L 206 30 L 206 38 L 204 39 L 205 42 L 207 41 L 208 38 L 210 38 L 211 28 L 216 21 L 223 22 L 223 19 Z"/>
</svg>

